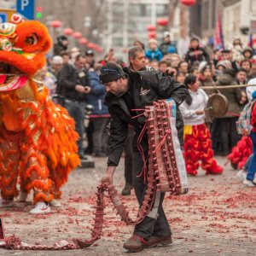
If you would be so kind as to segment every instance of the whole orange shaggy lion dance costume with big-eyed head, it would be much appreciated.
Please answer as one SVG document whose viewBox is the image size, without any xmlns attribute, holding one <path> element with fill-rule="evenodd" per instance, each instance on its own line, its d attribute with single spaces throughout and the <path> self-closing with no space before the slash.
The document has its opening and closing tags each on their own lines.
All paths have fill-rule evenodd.
<svg viewBox="0 0 256 256">
<path fill-rule="evenodd" d="M 59 198 L 69 172 L 79 165 L 74 122 L 49 101 L 35 79 L 51 46 L 47 28 L 13 15 L 0 24 L 0 189 L 4 200 L 20 189 L 34 191 L 34 203 Z"/>
</svg>

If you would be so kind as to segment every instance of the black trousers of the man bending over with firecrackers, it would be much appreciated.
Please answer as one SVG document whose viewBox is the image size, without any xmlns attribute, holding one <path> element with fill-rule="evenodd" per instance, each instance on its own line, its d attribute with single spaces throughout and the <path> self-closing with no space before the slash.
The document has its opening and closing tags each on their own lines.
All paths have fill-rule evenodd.
<svg viewBox="0 0 256 256">
<path fill-rule="evenodd" d="M 146 152 L 145 155 L 148 155 Z M 139 152 L 132 154 L 132 181 L 135 189 L 137 201 L 140 206 L 143 204 L 147 184 L 144 184 L 143 175 L 137 177 L 143 170 L 143 158 Z M 149 240 L 151 236 L 170 236 L 172 235 L 170 225 L 167 221 L 166 214 L 163 210 L 162 203 L 165 193 L 156 192 L 154 206 L 140 224 L 135 226 L 134 235 L 143 236 Z"/>
</svg>

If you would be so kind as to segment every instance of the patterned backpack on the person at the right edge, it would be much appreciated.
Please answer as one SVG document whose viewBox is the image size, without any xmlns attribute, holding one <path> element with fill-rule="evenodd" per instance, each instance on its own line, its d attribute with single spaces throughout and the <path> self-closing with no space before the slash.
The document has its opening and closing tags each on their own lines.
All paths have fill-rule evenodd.
<svg viewBox="0 0 256 256">
<path fill-rule="evenodd" d="M 253 110 L 253 106 L 256 100 L 248 102 L 241 111 L 240 117 L 236 122 L 236 130 L 239 134 L 243 136 L 248 136 L 252 129 L 253 125 L 251 125 L 251 114 Z"/>
</svg>

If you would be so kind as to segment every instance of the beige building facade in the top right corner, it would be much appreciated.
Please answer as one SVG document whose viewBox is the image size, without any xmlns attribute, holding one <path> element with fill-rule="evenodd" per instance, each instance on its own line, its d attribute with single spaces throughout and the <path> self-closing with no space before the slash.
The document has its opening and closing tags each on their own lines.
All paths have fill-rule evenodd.
<svg viewBox="0 0 256 256">
<path fill-rule="evenodd" d="M 256 32 L 256 0 L 198 0 L 190 9 L 190 35 L 212 42 L 218 16 L 226 46 L 234 38 L 246 44 L 248 34 Z"/>
</svg>

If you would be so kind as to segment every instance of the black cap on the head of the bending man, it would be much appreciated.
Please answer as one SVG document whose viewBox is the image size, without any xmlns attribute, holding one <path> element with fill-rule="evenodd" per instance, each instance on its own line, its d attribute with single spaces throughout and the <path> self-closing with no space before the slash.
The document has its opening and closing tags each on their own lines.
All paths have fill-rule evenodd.
<svg viewBox="0 0 256 256">
<path fill-rule="evenodd" d="M 117 64 L 107 63 L 99 70 L 102 84 L 108 84 L 125 76 L 125 73 Z"/>
</svg>

